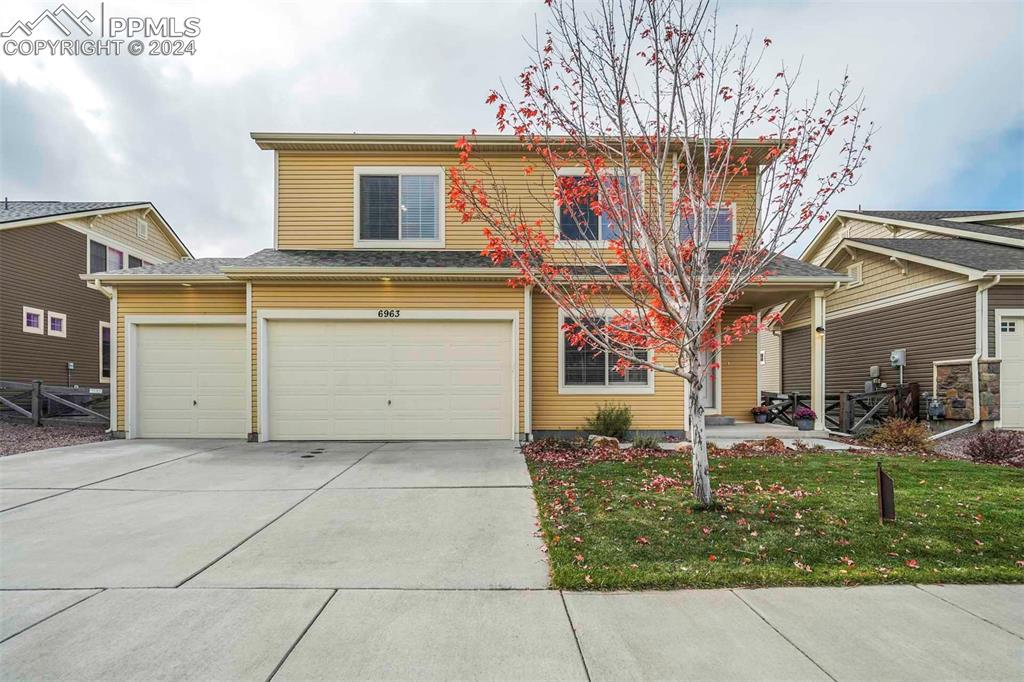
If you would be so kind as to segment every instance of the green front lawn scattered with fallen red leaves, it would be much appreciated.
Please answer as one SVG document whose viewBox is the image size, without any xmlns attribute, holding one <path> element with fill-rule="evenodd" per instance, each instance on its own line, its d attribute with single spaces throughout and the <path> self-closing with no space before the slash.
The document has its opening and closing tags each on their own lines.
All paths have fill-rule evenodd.
<svg viewBox="0 0 1024 682">
<path fill-rule="evenodd" d="M 878 459 L 713 458 L 714 510 L 693 508 L 688 456 L 529 468 L 559 588 L 1024 583 L 1024 470 L 881 458 L 897 513 L 883 526 Z M 657 474 L 683 486 L 642 489 Z"/>
</svg>

